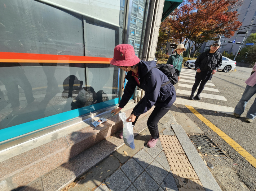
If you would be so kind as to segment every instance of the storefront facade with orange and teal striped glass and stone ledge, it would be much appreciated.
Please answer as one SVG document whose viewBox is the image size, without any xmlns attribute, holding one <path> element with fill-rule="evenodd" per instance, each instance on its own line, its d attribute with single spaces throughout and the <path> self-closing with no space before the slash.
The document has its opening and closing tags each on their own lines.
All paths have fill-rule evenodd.
<svg viewBox="0 0 256 191">
<path fill-rule="evenodd" d="M 181 3 L 0 0 L 0 190 L 19 190 L 106 138 L 85 133 L 72 142 L 74 153 L 51 146 L 79 137 L 79 121 L 118 106 L 124 73 L 110 65 L 114 47 L 127 43 L 153 60 L 161 20 Z M 69 135 L 54 133 L 67 127 Z M 50 159 L 47 145 L 63 160 Z M 34 167 L 43 160 L 50 168 Z"/>
</svg>

